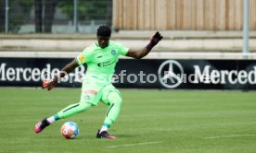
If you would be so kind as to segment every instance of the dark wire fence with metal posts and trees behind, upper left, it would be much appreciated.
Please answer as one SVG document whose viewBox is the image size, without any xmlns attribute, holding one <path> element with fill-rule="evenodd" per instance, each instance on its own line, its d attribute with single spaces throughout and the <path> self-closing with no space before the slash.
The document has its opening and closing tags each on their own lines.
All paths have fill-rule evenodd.
<svg viewBox="0 0 256 153">
<path fill-rule="evenodd" d="M 91 33 L 111 18 L 112 0 L 0 0 L 0 32 Z"/>
</svg>

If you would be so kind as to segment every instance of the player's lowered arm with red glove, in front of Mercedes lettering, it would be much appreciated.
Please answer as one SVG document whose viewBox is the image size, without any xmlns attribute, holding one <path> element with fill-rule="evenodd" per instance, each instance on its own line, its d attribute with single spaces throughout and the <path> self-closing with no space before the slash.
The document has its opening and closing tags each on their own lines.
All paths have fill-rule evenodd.
<svg viewBox="0 0 256 153">
<path fill-rule="evenodd" d="M 42 88 L 47 88 L 48 90 L 54 88 L 56 84 L 58 83 L 58 79 L 66 76 L 69 74 L 71 71 L 73 71 L 78 65 L 76 59 L 72 60 L 68 65 L 65 65 L 61 71 L 59 72 L 58 76 L 55 76 L 52 79 L 45 79 L 43 81 L 43 87 Z"/>
</svg>

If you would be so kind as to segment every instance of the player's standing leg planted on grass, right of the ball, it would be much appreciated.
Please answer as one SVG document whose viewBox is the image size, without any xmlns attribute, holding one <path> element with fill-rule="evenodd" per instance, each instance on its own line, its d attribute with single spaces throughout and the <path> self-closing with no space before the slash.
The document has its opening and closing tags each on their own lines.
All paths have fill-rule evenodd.
<svg viewBox="0 0 256 153">
<path fill-rule="evenodd" d="M 101 101 L 109 105 L 109 110 L 106 113 L 105 121 L 98 131 L 97 138 L 116 138 L 116 136 L 109 135 L 109 127 L 117 120 L 121 107 L 122 107 L 122 97 L 118 89 L 111 86 L 103 92 L 103 97 Z"/>
</svg>

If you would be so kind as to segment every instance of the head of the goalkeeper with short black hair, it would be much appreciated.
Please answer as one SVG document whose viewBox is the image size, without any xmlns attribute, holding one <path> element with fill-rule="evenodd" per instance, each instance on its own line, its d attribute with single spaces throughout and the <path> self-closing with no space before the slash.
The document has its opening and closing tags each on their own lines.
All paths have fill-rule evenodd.
<svg viewBox="0 0 256 153">
<path fill-rule="evenodd" d="M 111 29 L 108 26 L 99 26 L 96 30 L 97 42 L 101 48 L 109 46 L 109 39 L 111 36 Z"/>
</svg>

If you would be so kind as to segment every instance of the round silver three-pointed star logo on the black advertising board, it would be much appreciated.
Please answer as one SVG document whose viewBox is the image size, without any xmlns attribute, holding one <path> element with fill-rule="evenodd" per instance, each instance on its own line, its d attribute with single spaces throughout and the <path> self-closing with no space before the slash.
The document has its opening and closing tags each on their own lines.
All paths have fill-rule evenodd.
<svg viewBox="0 0 256 153">
<path fill-rule="evenodd" d="M 177 61 L 168 60 L 160 65 L 158 75 L 163 87 L 176 88 L 183 82 L 184 70 Z"/>
</svg>

